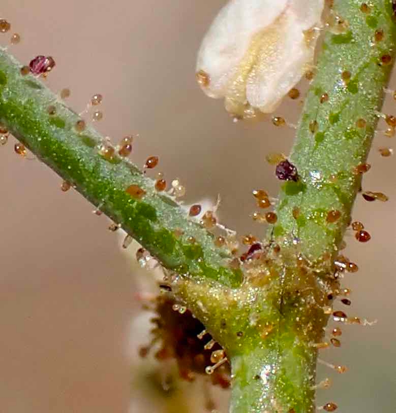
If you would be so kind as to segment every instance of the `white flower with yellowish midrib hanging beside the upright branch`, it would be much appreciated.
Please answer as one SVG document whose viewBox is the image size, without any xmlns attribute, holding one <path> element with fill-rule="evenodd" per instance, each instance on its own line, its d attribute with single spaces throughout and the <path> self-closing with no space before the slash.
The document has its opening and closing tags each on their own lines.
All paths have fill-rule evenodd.
<svg viewBox="0 0 396 413">
<path fill-rule="evenodd" d="M 231 0 L 211 24 L 197 80 L 228 112 L 272 112 L 313 64 L 324 0 Z"/>
</svg>

